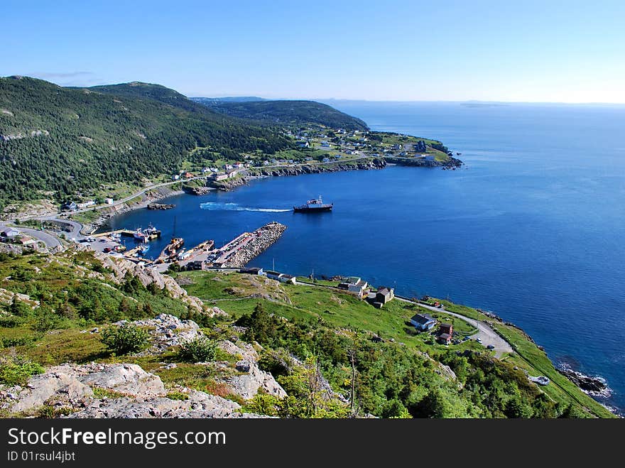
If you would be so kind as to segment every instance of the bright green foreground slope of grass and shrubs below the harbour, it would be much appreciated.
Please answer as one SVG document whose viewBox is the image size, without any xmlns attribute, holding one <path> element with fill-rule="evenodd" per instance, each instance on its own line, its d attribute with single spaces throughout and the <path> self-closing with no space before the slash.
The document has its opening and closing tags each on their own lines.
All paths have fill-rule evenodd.
<svg viewBox="0 0 625 468">
<path fill-rule="evenodd" d="M 258 342 L 259 366 L 287 389 L 290 398 L 305 395 L 308 378 L 302 364 L 320 369 L 339 398 L 352 400 L 358 415 L 383 418 L 558 418 L 611 417 L 611 413 L 559 376 L 545 354 L 513 327 L 495 325 L 518 352 L 495 359 L 473 340 L 443 346 L 430 334 L 417 334 L 408 324 L 420 309 L 392 301 L 383 309 L 367 305 L 333 288 L 286 285 L 268 278 L 222 272 L 176 273 L 178 283 L 197 295 L 206 308 L 229 314 L 210 317 L 134 276 L 115 280 L 112 271 L 86 251 L 63 254 L 0 254 L 0 383 L 4 366 L 27 359 L 43 366 L 73 361 L 130 362 L 159 376 L 168 386 L 190 386 L 229 395 L 218 383 L 219 366 L 180 361 L 176 349 L 165 354 L 114 355 L 104 346 L 97 326 L 106 330 L 115 320 L 153 317 L 165 312 L 191 318 L 211 339 Z M 11 296 L 17 293 L 17 298 Z M 460 313 L 490 320 L 474 309 L 447 304 Z M 441 322 L 450 322 L 442 312 Z M 472 325 L 453 320 L 462 334 Z M 234 327 L 234 325 L 237 325 Z M 373 340 L 380 337 L 380 340 Z M 222 354 L 216 361 L 226 358 Z M 174 369 L 163 361 L 176 363 Z M 233 361 L 233 362 L 234 362 Z M 299 362 L 300 364 L 296 364 Z M 9 363 L 9 364 L 7 364 Z M 231 363 L 232 364 L 232 363 Z M 234 365 L 234 364 L 233 364 Z M 228 366 L 232 367 L 232 366 Z M 528 381 L 544 374 L 543 388 Z M 317 390 L 319 390 L 317 388 Z M 304 398 L 304 397 L 302 397 Z M 350 408 L 339 403 L 319 413 L 316 403 L 285 407 L 276 397 L 259 394 L 245 403 L 254 413 L 285 417 L 344 417 Z M 296 405 L 296 406 L 297 406 Z M 315 409 L 317 408 L 317 409 Z"/>
</svg>

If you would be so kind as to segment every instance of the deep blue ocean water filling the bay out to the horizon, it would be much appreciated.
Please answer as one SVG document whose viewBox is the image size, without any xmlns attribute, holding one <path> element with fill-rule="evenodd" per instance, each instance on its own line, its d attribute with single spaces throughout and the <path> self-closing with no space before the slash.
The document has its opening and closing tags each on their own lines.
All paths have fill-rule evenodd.
<svg viewBox="0 0 625 468">
<path fill-rule="evenodd" d="M 608 403 L 625 410 L 625 107 L 330 104 L 375 130 L 440 139 L 466 165 L 267 178 L 172 197 L 175 209 L 124 214 L 114 227 L 152 222 L 163 230 L 156 255 L 174 217 L 188 244 L 283 222 L 254 265 L 353 274 L 491 310 L 554 361 L 604 376 Z M 290 212 L 320 194 L 333 212 Z"/>
</svg>

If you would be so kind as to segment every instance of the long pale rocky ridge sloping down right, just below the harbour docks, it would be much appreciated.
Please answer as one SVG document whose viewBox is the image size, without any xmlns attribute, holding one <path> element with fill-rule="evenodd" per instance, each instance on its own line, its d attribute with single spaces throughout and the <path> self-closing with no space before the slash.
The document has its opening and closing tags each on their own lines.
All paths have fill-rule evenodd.
<svg viewBox="0 0 625 468">
<path fill-rule="evenodd" d="M 199 298 L 190 296 L 173 278 L 168 275 L 158 273 L 153 268 L 144 268 L 136 263 L 124 259 L 114 259 L 112 256 L 97 252 L 96 258 L 102 261 L 105 268 L 110 268 L 114 272 L 114 279 L 118 282 L 124 280 L 126 273 L 136 276 L 144 286 L 156 283 L 159 288 L 166 288 L 175 299 L 180 299 L 183 303 L 190 305 L 193 309 L 201 312 L 204 305 Z"/>
</svg>

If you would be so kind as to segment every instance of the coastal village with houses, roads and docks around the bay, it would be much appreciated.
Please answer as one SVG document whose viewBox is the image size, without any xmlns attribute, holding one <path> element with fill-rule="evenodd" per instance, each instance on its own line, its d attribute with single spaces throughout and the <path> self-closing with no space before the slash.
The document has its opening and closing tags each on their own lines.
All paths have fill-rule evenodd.
<svg viewBox="0 0 625 468">
<path fill-rule="evenodd" d="M 319 170 L 346 170 L 351 168 L 380 168 L 387 164 L 418 165 L 456 170 L 462 164 L 447 148 L 437 141 L 415 138 L 401 134 L 380 134 L 369 131 L 346 131 L 344 129 L 305 128 L 286 132 L 295 143 L 295 149 L 283 151 L 271 157 L 262 154 L 241 155 L 240 160 L 214 160 L 201 167 L 188 166 L 170 175 L 170 180 L 153 180 L 141 190 L 141 194 L 158 187 L 183 186 L 193 195 L 210 190 L 229 190 L 246 183 L 254 177 L 297 174 Z M 456 156 L 460 156 L 457 153 Z M 362 165 L 364 162 L 382 161 L 378 165 Z M 314 168 L 314 169 L 312 169 Z M 163 192 L 166 196 L 168 191 Z M 254 232 L 243 232 L 223 246 L 216 246 L 207 239 L 197 246 L 185 246 L 182 238 L 170 239 L 158 256 L 148 258 L 150 242 L 161 237 L 161 231 L 149 226 L 146 229 L 117 229 L 97 232 L 99 224 L 84 214 L 116 213 L 116 207 L 127 207 L 136 193 L 100 192 L 92 198 L 81 197 L 67 200 L 57 213 L 47 216 L 26 217 L 21 222 L 0 222 L 0 242 L 11 251 L 62 251 L 72 244 L 97 254 L 136 264 L 137 268 L 153 271 L 153 274 L 174 272 L 224 272 L 255 276 L 275 281 L 276 284 L 295 288 L 315 286 L 335 290 L 367 304 L 374 310 L 384 310 L 393 301 L 414 305 L 415 313 L 406 321 L 410 325 L 409 336 L 420 337 L 429 346 L 458 346 L 459 355 L 467 352 L 465 343 L 474 343 L 495 357 L 513 352 L 513 345 L 496 331 L 493 325 L 476 323 L 464 315 L 446 310 L 438 300 L 403 298 L 394 288 L 374 287 L 364 278 L 336 276 L 318 280 L 312 276 L 295 276 L 292 272 L 264 270 L 249 266 L 256 256 L 266 251 L 280 239 L 287 229 L 278 222 L 265 224 Z M 175 205 L 160 204 L 158 197 L 143 197 L 136 207 L 146 209 L 173 209 Z M 124 239 L 129 239 L 126 243 Z M 395 310 L 395 308 L 393 308 Z M 384 342 L 386 338 L 372 334 L 371 342 Z M 391 338 L 391 341 L 395 339 Z M 515 366 L 515 369 L 518 367 Z M 527 372 L 526 372 L 527 374 Z M 543 375 L 527 374 L 527 379 L 538 386 L 548 386 L 550 379 Z M 594 382 L 593 382 L 594 384 Z"/>
</svg>

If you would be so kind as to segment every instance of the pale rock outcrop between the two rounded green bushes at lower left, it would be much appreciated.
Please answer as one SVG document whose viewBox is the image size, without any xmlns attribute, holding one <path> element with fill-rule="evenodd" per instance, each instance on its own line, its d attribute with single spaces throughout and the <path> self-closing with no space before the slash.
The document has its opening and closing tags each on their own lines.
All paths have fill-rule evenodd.
<svg viewBox="0 0 625 468">
<path fill-rule="evenodd" d="M 120 320 L 114 325 L 126 323 L 128 323 L 126 320 Z M 152 335 L 152 347 L 148 349 L 148 354 L 161 353 L 168 347 L 191 341 L 202 333 L 200 326 L 193 320 L 180 320 L 178 317 L 168 314 L 160 314 L 153 319 L 135 320 L 130 323 L 137 327 L 146 327 Z"/>
</svg>

